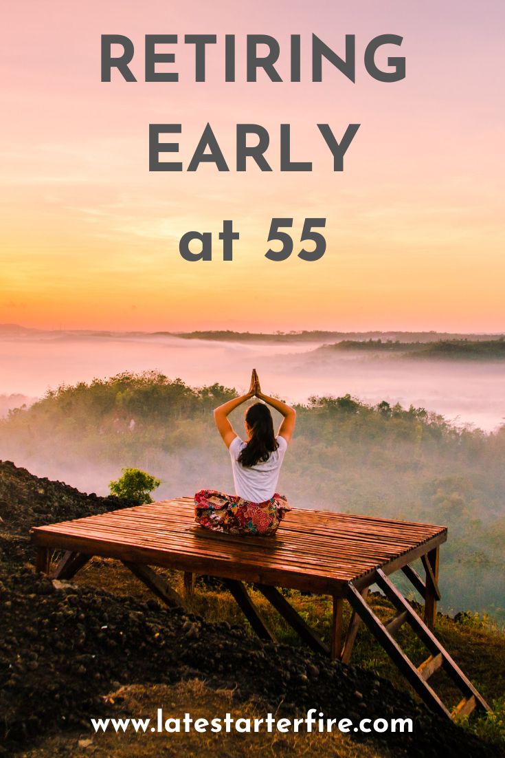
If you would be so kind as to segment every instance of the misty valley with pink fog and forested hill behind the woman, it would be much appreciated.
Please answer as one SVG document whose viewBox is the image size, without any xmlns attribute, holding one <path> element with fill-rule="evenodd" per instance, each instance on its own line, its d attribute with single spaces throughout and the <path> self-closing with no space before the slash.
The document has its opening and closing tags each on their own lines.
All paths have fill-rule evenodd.
<svg viewBox="0 0 505 758">
<path fill-rule="evenodd" d="M 75 374 L 67 373 L 61 387 L 53 385 L 41 400 L 11 409 L 0 421 L 0 459 L 100 494 L 108 492 L 108 483 L 126 466 L 161 479 L 154 493 L 157 499 L 192 496 L 202 487 L 230 490 L 226 450 L 214 430 L 212 410 L 234 396 L 234 387 L 241 389 L 241 380 L 236 379 L 240 375 L 243 380 L 245 367 L 254 362 L 260 373 L 263 365 L 264 381 L 279 396 L 298 395 L 297 431 L 279 483 L 279 491 L 291 504 L 447 525 L 449 536 L 441 550 L 441 609 L 469 609 L 505 622 L 505 426 L 499 423 L 503 396 L 494 399 L 500 409 L 494 431 L 488 432 L 447 420 L 437 412 L 435 401 L 432 407 L 420 406 L 391 396 L 391 377 L 407 371 L 405 367 L 410 377 L 421 381 L 432 375 L 438 390 L 442 377 L 452 377 L 447 394 L 450 390 L 453 395 L 463 392 L 465 382 L 484 377 L 485 384 L 477 385 L 479 392 L 487 386 L 492 395 L 494 387 L 503 385 L 503 362 L 493 358 L 486 364 L 481 357 L 476 366 L 456 360 L 451 368 L 430 362 L 426 372 L 424 359 L 396 356 L 389 363 L 389 358 L 376 356 L 363 362 L 363 353 L 381 352 L 373 344 L 361 343 L 359 351 L 344 341 L 340 348 L 338 344 L 302 346 L 301 340 L 282 343 L 282 339 L 268 345 L 248 345 L 242 339 L 234 346 L 231 340 L 187 337 L 62 334 L 51 346 L 46 335 L 44 349 L 51 352 L 61 377 L 65 374 L 58 349 L 64 347 L 68 359 L 79 346 Z M 20 340 L 25 353 L 26 340 L 31 340 L 31 349 L 39 343 L 36 335 L 25 335 Z M 8 349 L 8 340 L 4 347 Z M 102 349 L 108 352 L 108 363 L 103 362 Z M 483 344 L 477 352 L 489 349 Z M 398 350 L 391 343 L 385 347 L 385 352 Z M 110 362 L 114 351 L 120 351 L 117 360 L 131 370 L 123 368 L 114 375 Z M 153 365 L 154 352 L 163 370 L 142 371 L 147 356 Z M 335 354 L 347 357 L 337 360 Z M 91 377 L 86 373 L 86 355 L 94 371 Z M 189 355 L 198 365 L 189 362 Z M 229 371 L 230 362 L 236 374 Z M 104 378 L 93 378 L 98 365 L 107 371 Z M 40 366 L 39 381 L 43 381 L 42 361 Z M 182 373 L 185 381 L 176 378 Z M 217 381 L 221 377 L 226 384 Z M 374 385 L 374 398 L 364 399 L 363 388 Z M 26 393 L 36 390 L 35 384 L 17 386 Z M 344 386 L 360 391 L 339 392 Z M 326 392 L 320 392 L 323 387 Z M 4 384 L 0 390 L 11 388 Z M 42 394 L 40 389 L 37 393 Z M 407 394 L 405 387 L 403 393 Z M 232 422 L 240 433 L 240 412 L 235 412 Z"/>
</svg>

